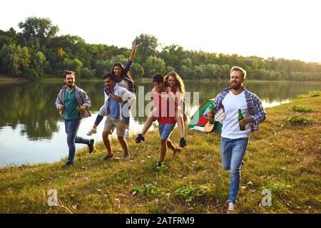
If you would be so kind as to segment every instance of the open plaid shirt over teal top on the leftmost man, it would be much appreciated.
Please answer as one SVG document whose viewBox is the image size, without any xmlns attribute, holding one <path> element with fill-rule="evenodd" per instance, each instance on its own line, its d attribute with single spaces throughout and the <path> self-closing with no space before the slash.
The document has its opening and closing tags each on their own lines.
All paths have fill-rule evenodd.
<svg viewBox="0 0 321 228">
<path fill-rule="evenodd" d="M 83 110 L 83 112 L 81 113 L 81 117 L 87 118 L 91 116 L 91 113 L 89 113 L 87 110 L 89 107 L 91 107 L 91 99 L 89 99 L 88 95 L 83 89 L 78 88 L 77 86 L 75 87 L 76 87 L 75 89 L 76 89 L 77 102 L 86 108 L 86 110 Z M 59 108 L 60 105 L 63 105 L 63 106 L 65 105 L 63 95 L 65 94 L 66 89 L 67 89 L 67 86 L 63 86 L 58 93 L 56 103 L 55 103 L 57 109 Z M 60 110 L 59 114 L 63 118 L 63 111 Z"/>
</svg>

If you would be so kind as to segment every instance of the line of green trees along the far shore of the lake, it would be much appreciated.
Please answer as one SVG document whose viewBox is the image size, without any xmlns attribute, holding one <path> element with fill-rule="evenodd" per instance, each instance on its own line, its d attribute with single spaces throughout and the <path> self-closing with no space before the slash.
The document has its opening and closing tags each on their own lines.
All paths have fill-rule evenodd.
<svg viewBox="0 0 321 228">
<path fill-rule="evenodd" d="M 89 44 L 79 36 L 57 36 L 59 28 L 48 18 L 32 16 L 18 26 L 21 31 L 0 30 L 0 73 L 9 76 L 37 80 L 61 76 L 70 69 L 78 78 L 101 78 L 116 61 L 126 63 L 131 53 L 128 48 Z M 176 44 L 161 47 L 148 34 L 136 36 L 135 41 L 134 79 L 176 71 L 185 79 L 221 80 L 229 78 L 232 66 L 241 66 L 253 80 L 321 81 L 321 63 L 188 51 Z"/>
</svg>

